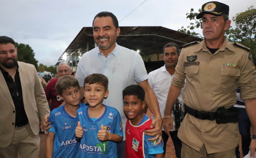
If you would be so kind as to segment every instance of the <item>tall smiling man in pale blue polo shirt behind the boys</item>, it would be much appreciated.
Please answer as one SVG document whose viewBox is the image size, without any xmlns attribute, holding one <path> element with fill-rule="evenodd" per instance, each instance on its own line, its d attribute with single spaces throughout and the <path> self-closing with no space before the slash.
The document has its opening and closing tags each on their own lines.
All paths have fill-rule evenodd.
<svg viewBox="0 0 256 158">
<path fill-rule="evenodd" d="M 159 105 L 154 91 L 148 83 L 148 75 L 140 54 L 116 43 L 120 28 L 114 14 L 110 12 L 98 13 L 92 25 L 94 41 L 98 47 L 84 53 L 78 63 L 76 78 L 81 86 L 81 96 L 83 96 L 85 77 L 92 73 L 105 75 L 109 80 L 109 95 L 103 104 L 119 111 L 125 127 L 126 116 L 123 112 L 122 91 L 126 86 L 137 83 L 145 90 L 145 101 L 155 116 L 155 120 L 151 124 L 151 127 L 155 127 L 155 129 L 146 130 L 145 134 L 155 136 L 150 140 L 161 140 L 162 118 Z M 117 145 L 117 153 L 119 158 L 124 158 L 125 141 Z"/>
</svg>

